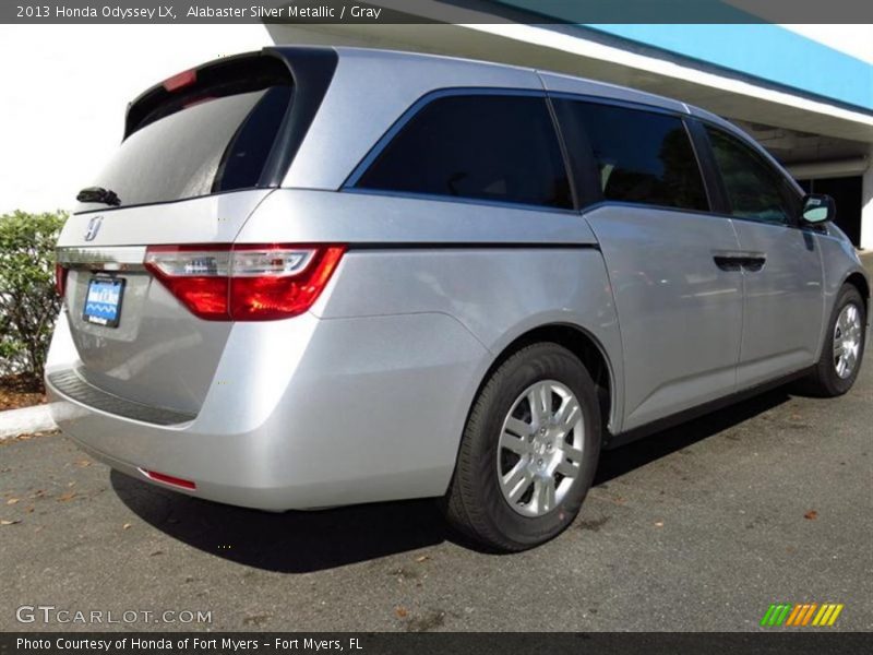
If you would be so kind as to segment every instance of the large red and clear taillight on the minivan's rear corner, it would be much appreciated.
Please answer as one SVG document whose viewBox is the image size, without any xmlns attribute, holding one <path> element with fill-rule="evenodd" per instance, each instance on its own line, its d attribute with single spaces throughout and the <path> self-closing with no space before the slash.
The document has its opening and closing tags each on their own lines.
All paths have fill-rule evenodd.
<svg viewBox="0 0 873 655">
<path fill-rule="evenodd" d="M 207 321 L 272 321 L 315 302 L 345 246 L 154 246 L 145 266 Z"/>
</svg>

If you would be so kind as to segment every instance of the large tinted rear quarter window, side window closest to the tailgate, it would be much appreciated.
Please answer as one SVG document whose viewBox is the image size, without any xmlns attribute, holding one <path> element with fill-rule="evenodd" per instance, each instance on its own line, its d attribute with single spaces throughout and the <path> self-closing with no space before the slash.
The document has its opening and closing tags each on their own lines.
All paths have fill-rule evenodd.
<svg viewBox="0 0 873 655">
<path fill-rule="evenodd" d="M 546 99 L 434 99 L 388 143 L 357 187 L 572 207 Z"/>
</svg>

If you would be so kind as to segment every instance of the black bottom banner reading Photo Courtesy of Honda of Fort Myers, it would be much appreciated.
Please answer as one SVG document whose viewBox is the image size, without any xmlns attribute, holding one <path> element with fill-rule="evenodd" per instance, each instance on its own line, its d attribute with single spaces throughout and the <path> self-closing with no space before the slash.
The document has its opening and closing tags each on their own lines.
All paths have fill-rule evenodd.
<svg viewBox="0 0 873 655">
<path fill-rule="evenodd" d="M 731 653 L 736 655 L 857 655 L 869 633 L 781 631 L 595 633 L 5 633 L 0 655 L 548 655 Z"/>
</svg>

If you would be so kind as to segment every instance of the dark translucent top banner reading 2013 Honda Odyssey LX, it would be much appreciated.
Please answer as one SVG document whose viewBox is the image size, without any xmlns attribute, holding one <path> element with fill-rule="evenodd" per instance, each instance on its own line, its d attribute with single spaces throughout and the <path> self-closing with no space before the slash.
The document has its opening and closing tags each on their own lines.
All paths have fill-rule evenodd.
<svg viewBox="0 0 873 655">
<path fill-rule="evenodd" d="M 871 23 L 865 0 L 4 0 L 0 23 Z"/>
</svg>

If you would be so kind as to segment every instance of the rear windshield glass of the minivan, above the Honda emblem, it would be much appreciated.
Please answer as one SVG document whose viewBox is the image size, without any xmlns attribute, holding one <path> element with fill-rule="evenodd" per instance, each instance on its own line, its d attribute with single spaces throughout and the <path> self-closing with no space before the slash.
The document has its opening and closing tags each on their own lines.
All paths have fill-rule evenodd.
<svg viewBox="0 0 873 655">
<path fill-rule="evenodd" d="M 256 187 L 291 97 L 290 79 L 276 82 L 225 79 L 164 94 L 94 186 L 113 191 L 122 206 Z"/>
</svg>

